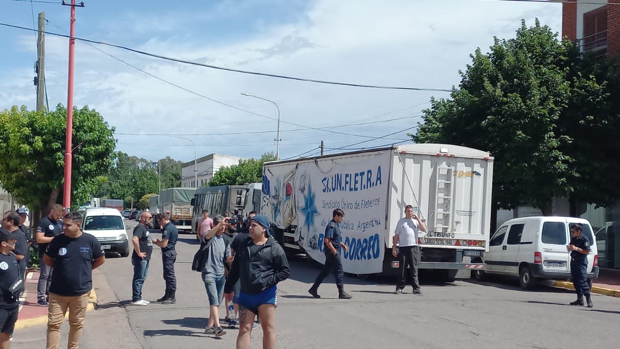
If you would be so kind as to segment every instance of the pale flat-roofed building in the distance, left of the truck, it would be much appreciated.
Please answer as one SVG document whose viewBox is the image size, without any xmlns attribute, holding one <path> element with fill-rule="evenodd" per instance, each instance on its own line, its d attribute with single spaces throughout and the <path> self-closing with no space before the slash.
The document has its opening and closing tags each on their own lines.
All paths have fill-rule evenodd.
<svg viewBox="0 0 620 349">
<path fill-rule="evenodd" d="M 181 168 L 181 186 L 185 188 L 201 188 L 208 183 L 213 174 L 220 168 L 237 165 L 239 160 L 245 160 L 239 156 L 210 154 L 196 160 L 198 184 L 194 183 L 194 161 L 188 161 Z"/>
</svg>

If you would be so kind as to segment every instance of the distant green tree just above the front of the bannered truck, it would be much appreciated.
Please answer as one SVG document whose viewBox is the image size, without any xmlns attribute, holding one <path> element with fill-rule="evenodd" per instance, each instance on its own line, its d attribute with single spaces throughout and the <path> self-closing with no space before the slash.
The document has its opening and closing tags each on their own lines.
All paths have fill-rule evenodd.
<svg viewBox="0 0 620 349">
<path fill-rule="evenodd" d="M 208 186 L 259 183 L 263 178 L 263 163 L 275 161 L 273 153 L 264 153 L 260 159 L 239 160 L 238 165 L 220 168 Z"/>
</svg>

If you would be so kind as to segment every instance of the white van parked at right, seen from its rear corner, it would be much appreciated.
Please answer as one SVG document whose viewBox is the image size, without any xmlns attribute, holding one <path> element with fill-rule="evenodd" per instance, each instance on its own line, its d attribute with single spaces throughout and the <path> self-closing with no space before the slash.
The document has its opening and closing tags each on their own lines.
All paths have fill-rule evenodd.
<svg viewBox="0 0 620 349">
<path fill-rule="evenodd" d="M 588 283 L 598 278 L 598 251 L 590 222 L 573 217 L 523 217 L 508 220 L 497 229 L 484 254 L 485 271 L 476 271 L 474 278 L 486 274 L 518 276 L 521 288 L 531 289 L 537 279 L 570 279 L 570 225 L 581 224 L 590 240 Z"/>
</svg>

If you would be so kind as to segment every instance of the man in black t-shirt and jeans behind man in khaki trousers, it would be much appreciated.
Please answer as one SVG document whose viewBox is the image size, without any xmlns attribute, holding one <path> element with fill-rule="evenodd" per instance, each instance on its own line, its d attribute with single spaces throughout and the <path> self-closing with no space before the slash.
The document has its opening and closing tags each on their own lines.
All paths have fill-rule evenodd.
<svg viewBox="0 0 620 349">
<path fill-rule="evenodd" d="M 63 222 L 60 221 L 63 217 L 63 206 L 61 204 L 54 204 L 51 207 L 50 214 L 47 217 L 43 217 L 39 220 L 37 230 L 35 230 L 35 239 L 39 246 L 39 261 L 43 261 L 43 254 L 47 248 L 47 244 L 51 242 L 56 235 L 60 235 L 63 232 Z M 50 294 L 51 283 L 51 267 L 45 263 L 40 264 L 39 280 L 37 284 L 37 304 L 42 307 L 48 306 L 48 297 Z"/>
</svg>

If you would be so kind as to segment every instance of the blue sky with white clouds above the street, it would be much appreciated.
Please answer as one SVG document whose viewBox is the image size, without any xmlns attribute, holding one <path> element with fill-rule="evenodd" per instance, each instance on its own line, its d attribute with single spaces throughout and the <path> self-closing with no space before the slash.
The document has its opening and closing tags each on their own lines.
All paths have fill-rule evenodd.
<svg viewBox="0 0 620 349">
<path fill-rule="evenodd" d="M 513 38 L 521 19 L 533 25 L 538 18 L 554 32 L 562 20 L 561 4 L 501 0 L 84 0 L 84 5 L 76 9 L 77 37 L 237 70 L 432 89 L 458 86 L 469 55 L 476 48 L 488 52 L 494 37 Z M 69 33 L 68 6 L 0 0 L 1 23 L 32 28 L 43 11 L 48 32 Z M 53 109 L 67 102 L 68 39 L 48 34 L 45 50 Z M 275 153 L 276 107 L 242 93 L 279 107 L 280 159 L 316 155 L 321 140 L 325 153 L 402 142 L 415 133 L 431 97 L 449 97 L 441 91 L 248 75 L 79 41 L 75 57 L 74 105 L 96 109 L 115 127 L 117 150 L 182 161 L 193 160 L 194 146 L 170 135 L 193 140 L 197 157 Z M 0 110 L 35 109 L 36 59 L 34 32 L 0 26 Z"/>
</svg>

